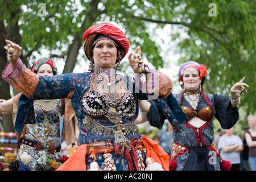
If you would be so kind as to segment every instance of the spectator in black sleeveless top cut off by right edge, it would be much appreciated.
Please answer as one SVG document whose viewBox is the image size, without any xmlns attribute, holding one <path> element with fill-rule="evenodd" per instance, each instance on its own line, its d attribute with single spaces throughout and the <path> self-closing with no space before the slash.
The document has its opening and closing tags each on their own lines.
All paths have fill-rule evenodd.
<svg viewBox="0 0 256 182">
<path fill-rule="evenodd" d="M 251 171 L 256 171 L 256 115 L 250 114 L 247 117 L 250 129 L 245 133 L 246 143 L 249 147 L 248 162 Z"/>
</svg>

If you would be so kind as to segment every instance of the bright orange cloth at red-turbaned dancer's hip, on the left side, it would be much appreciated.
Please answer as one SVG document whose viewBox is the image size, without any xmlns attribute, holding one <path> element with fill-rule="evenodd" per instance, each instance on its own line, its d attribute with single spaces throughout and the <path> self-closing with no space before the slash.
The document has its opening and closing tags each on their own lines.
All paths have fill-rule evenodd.
<svg viewBox="0 0 256 182">
<path fill-rule="evenodd" d="M 76 147 L 76 152 L 56 171 L 86 171 L 85 156 L 87 144 Z"/>
</svg>

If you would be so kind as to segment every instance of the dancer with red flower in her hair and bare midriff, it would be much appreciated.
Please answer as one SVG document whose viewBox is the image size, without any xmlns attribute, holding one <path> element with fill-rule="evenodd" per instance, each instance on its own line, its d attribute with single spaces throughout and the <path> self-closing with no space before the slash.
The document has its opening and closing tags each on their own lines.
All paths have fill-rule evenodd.
<svg viewBox="0 0 256 182">
<path fill-rule="evenodd" d="M 212 119 L 215 116 L 223 129 L 233 127 L 238 120 L 240 94 L 244 94 L 245 87 L 249 86 L 243 82 L 244 77 L 230 88 L 229 96 L 205 94 L 203 84 L 207 72 L 205 65 L 195 61 L 187 61 L 180 66 L 179 81 L 182 91 L 174 94 L 174 97 L 187 115 L 188 121 L 182 124 L 181 133 L 174 130 L 170 170 L 218 171 L 228 170 L 231 166 L 230 162 L 221 159 L 216 150 Z M 147 112 L 150 125 L 158 128 L 163 126 L 166 119 L 166 115 L 160 110 L 160 104 L 145 102 L 143 109 Z M 209 154 L 212 160 L 210 163 Z"/>
</svg>

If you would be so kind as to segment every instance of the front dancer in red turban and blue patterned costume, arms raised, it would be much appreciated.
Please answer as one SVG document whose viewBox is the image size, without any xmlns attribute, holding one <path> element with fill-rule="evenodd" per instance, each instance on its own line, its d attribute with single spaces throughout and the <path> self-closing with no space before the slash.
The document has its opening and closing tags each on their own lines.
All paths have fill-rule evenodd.
<svg viewBox="0 0 256 182">
<path fill-rule="evenodd" d="M 172 96 L 170 78 L 143 64 L 139 46 L 128 55 L 134 76 L 117 74 L 115 71 L 121 69 L 120 62 L 130 44 L 113 24 L 100 23 L 88 28 L 83 40 L 90 72 L 44 78 L 28 76 L 18 59 L 20 47 L 7 41 L 7 46 L 14 47 L 16 52 L 9 53 L 10 63 L 3 72 L 6 81 L 27 97 L 72 100 L 80 128 L 78 147 L 58 170 L 168 170 L 170 156 L 153 140 L 141 136 L 135 118 L 138 99 L 157 98 L 176 130 L 182 130 L 180 123 L 187 117 L 181 107 L 174 103 L 177 106 L 172 113 L 171 102 L 163 100 Z M 31 79 L 36 84 L 24 88 L 26 80 Z M 18 80 L 22 84 L 15 85 Z"/>
</svg>

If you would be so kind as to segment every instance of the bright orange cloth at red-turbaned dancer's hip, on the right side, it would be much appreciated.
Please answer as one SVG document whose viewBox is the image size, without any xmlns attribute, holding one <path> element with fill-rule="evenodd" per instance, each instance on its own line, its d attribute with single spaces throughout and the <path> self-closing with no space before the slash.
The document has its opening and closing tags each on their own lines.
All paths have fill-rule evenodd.
<svg viewBox="0 0 256 182">
<path fill-rule="evenodd" d="M 142 137 L 146 156 L 154 159 L 154 162 L 162 165 L 164 171 L 169 171 L 170 156 L 154 140 L 148 137 Z"/>
</svg>

